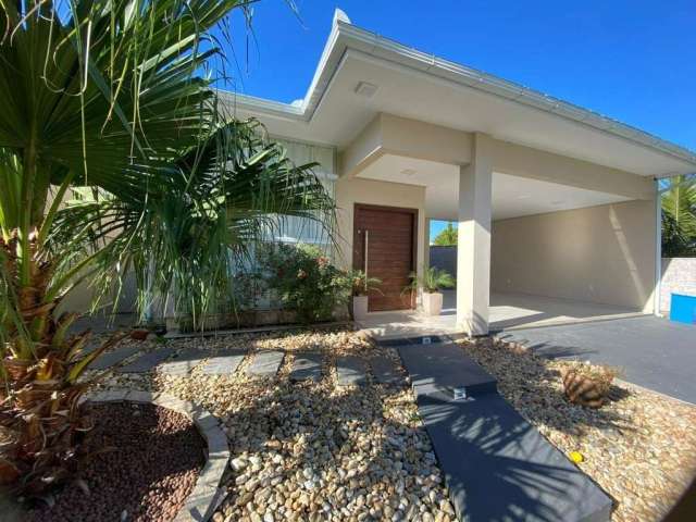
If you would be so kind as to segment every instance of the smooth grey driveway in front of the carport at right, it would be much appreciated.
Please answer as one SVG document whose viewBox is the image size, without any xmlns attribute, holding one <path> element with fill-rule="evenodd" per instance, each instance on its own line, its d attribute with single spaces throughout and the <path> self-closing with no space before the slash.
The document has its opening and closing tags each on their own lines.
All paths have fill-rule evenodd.
<svg viewBox="0 0 696 522">
<path fill-rule="evenodd" d="M 501 332 L 543 357 L 589 360 L 623 380 L 696 403 L 696 326 L 655 315 Z"/>
</svg>

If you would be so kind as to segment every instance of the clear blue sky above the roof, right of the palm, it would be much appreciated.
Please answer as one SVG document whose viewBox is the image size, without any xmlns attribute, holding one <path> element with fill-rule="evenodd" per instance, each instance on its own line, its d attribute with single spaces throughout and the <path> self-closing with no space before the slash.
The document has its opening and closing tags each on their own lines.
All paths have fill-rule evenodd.
<svg viewBox="0 0 696 522">
<path fill-rule="evenodd" d="M 239 71 L 229 73 L 238 91 L 302 98 L 338 5 L 360 27 L 696 150 L 694 0 L 296 4 L 301 23 L 284 0 L 254 4 L 248 60 L 244 26 L 233 25 Z"/>
</svg>

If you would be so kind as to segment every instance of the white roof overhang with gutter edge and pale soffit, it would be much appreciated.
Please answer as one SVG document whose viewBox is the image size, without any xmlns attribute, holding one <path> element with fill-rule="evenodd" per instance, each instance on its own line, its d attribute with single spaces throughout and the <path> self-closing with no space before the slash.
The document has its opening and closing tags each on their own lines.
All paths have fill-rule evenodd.
<svg viewBox="0 0 696 522">
<path fill-rule="evenodd" d="M 645 176 L 696 171 L 696 153 L 599 113 L 351 25 L 340 12 L 304 98 L 293 104 L 223 92 L 272 134 L 348 146 L 377 113 L 564 154 Z M 370 98 L 360 82 L 377 86 Z"/>
</svg>

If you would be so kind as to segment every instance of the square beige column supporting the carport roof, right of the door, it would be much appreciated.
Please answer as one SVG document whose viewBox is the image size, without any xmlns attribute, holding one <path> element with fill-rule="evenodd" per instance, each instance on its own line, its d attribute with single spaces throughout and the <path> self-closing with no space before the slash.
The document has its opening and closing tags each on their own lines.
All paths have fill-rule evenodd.
<svg viewBox="0 0 696 522">
<path fill-rule="evenodd" d="M 493 141 L 476 134 L 471 163 L 460 167 L 457 234 L 457 326 L 488 333 Z"/>
</svg>

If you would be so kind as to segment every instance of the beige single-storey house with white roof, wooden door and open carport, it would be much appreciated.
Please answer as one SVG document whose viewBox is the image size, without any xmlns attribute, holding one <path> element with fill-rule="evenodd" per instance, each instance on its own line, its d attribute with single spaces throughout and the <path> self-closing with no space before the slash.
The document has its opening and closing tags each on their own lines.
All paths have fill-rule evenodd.
<svg viewBox="0 0 696 522">
<path fill-rule="evenodd" d="M 452 320 L 470 334 L 488 332 L 493 296 L 517 296 L 518 310 L 520 299 L 655 310 L 656 179 L 696 171 L 689 150 L 359 28 L 339 10 L 302 100 L 223 99 L 296 161 L 322 163 L 339 207 L 336 261 L 384 282 L 372 311 L 412 306 L 401 289 L 427 263 L 430 220 L 459 222 Z"/>
</svg>

